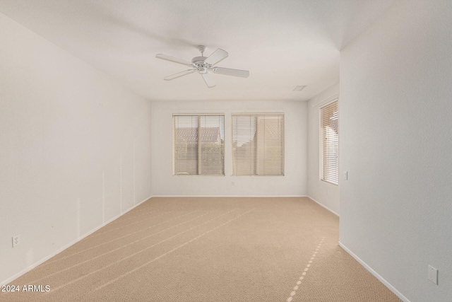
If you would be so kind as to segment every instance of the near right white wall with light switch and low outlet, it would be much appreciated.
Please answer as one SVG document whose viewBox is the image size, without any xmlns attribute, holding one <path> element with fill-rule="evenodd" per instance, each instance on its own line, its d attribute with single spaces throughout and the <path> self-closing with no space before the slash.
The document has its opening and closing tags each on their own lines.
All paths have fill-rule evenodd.
<svg viewBox="0 0 452 302">
<path fill-rule="evenodd" d="M 400 0 L 341 52 L 340 242 L 412 302 L 452 301 L 451 37 L 452 1 Z"/>
</svg>

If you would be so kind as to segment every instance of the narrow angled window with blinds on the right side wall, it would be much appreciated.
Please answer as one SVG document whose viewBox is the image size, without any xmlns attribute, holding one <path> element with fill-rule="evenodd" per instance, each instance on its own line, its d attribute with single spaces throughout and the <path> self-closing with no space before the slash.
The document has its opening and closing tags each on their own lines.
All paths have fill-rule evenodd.
<svg viewBox="0 0 452 302">
<path fill-rule="evenodd" d="M 321 180 L 339 183 L 339 110 L 338 100 L 320 108 Z"/>
</svg>

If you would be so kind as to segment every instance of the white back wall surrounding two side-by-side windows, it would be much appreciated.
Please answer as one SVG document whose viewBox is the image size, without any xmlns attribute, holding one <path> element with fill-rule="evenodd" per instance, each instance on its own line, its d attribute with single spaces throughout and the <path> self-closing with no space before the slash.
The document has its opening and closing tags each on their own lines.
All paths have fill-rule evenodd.
<svg viewBox="0 0 452 302">
<path fill-rule="evenodd" d="M 207 88 L 206 88 L 207 89 Z M 285 113 L 285 175 L 232 176 L 231 113 Z M 172 114 L 225 113 L 225 176 L 172 175 Z M 307 105 L 295 101 L 153 102 L 153 196 L 307 194 Z"/>
</svg>

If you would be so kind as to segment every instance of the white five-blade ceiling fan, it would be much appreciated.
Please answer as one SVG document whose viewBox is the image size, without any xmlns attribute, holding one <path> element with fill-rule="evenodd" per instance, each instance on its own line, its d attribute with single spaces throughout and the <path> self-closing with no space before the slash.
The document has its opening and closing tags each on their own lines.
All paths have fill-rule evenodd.
<svg viewBox="0 0 452 302">
<path fill-rule="evenodd" d="M 201 52 L 201 57 L 194 57 L 193 59 L 191 59 L 191 62 L 185 61 L 183 59 L 169 57 L 166 54 L 156 54 L 155 57 L 158 59 L 164 59 L 167 61 L 184 64 L 186 66 L 191 67 L 191 69 L 178 72 L 177 74 L 165 76 L 165 78 L 163 79 L 165 79 L 165 81 L 170 81 L 177 79 L 181 76 L 186 76 L 187 74 L 193 74 L 195 71 L 198 71 L 198 74 L 201 74 L 201 76 L 203 76 L 203 79 L 206 82 L 208 88 L 212 88 L 215 86 L 215 81 L 213 81 L 211 74 L 212 72 L 214 74 L 225 74 L 227 76 L 240 76 L 242 78 L 247 78 L 249 76 L 249 71 L 247 70 L 230 69 L 215 66 L 215 64 L 227 58 L 227 52 L 225 52 L 225 50 L 221 50 L 220 48 L 218 48 L 208 57 L 204 57 L 204 51 L 206 51 L 206 46 L 199 45 L 198 50 Z"/>
</svg>

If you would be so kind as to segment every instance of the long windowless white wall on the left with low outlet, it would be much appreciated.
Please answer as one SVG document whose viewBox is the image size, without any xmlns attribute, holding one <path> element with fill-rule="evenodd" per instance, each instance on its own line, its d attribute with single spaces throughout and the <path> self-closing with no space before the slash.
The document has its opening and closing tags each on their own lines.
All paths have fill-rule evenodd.
<svg viewBox="0 0 452 302">
<path fill-rule="evenodd" d="M 150 197 L 150 102 L 1 13 L 0 40 L 4 284 Z"/>
</svg>

